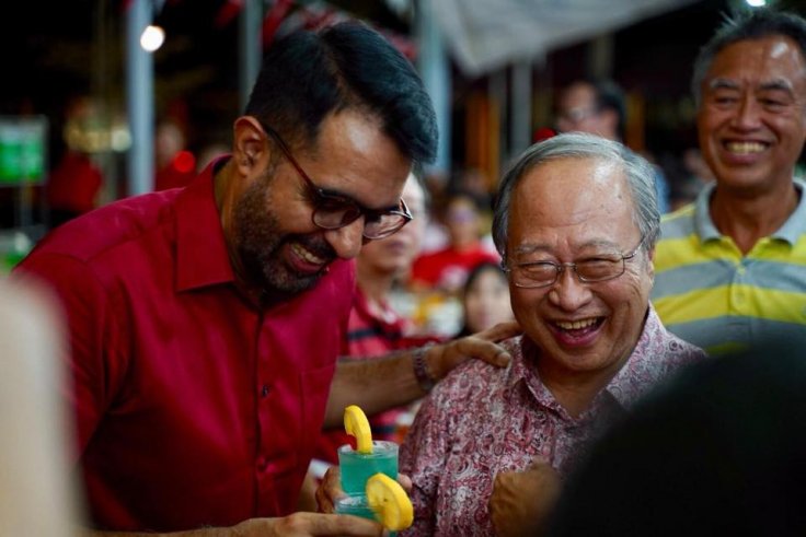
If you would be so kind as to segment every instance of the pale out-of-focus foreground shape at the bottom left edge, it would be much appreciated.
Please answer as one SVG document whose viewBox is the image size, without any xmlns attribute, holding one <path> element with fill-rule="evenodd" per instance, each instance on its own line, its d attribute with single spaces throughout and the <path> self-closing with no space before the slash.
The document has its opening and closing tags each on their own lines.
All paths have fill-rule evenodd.
<svg viewBox="0 0 806 537">
<path fill-rule="evenodd" d="M 64 337 L 37 288 L 0 278 L 0 535 L 76 535 L 68 420 L 58 405 Z"/>
</svg>

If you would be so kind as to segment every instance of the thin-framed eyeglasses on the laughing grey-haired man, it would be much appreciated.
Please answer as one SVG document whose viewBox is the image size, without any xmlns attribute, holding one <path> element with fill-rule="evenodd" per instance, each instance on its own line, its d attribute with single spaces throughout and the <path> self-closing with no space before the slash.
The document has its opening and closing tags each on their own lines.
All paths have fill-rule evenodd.
<svg viewBox="0 0 806 537">
<path fill-rule="evenodd" d="M 566 268 L 572 269 L 579 281 L 584 283 L 613 280 L 624 273 L 626 261 L 635 257 L 644 245 L 644 238 L 642 236 L 638 245 L 626 255 L 597 255 L 574 262 L 521 262 L 511 267 L 504 267 L 504 270 L 510 275 L 515 287 L 526 289 L 553 285 Z"/>
</svg>

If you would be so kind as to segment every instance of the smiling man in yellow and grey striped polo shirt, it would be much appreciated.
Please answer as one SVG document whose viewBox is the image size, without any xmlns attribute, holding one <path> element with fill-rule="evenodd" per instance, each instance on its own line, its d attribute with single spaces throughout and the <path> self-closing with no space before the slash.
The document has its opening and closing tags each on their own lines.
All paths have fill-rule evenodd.
<svg viewBox="0 0 806 537">
<path fill-rule="evenodd" d="M 806 332 L 806 21 L 728 21 L 700 52 L 700 147 L 716 177 L 661 225 L 653 303 L 712 354 Z"/>
</svg>

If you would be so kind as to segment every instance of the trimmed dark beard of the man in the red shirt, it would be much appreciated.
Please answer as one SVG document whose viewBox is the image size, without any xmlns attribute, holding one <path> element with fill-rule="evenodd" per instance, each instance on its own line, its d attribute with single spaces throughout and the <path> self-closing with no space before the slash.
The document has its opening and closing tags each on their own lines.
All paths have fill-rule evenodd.
<svg viewBox="0 0 806 537">
<path fill-rule="evenodd" d="M 284 246 L 299 243 L 315 255 L 335 259 L 331 245 L 319 235 L 284 233 L 273 211 L 270 184 L 276 166 L 252 183 L 235 203 L 233 224 L 235 248 L 246 283 L 261 291 L 268 301 L 290 299 L 311 289 L 325 272 L 299 273 L 283 258 Z M 330 265 L 330 262 L 327 264 Z"/>
</svg>

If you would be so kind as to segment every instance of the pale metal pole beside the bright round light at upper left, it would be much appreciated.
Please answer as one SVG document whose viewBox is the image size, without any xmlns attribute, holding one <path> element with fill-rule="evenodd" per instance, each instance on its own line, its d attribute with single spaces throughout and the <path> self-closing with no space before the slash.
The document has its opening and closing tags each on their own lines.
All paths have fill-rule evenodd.
<svg viewBox="0 0 806 537">
<path fill-rule="evenodd" d="M 131 0 L 126 14 L 126 101 L 131 148 L 128 195 L 153 190 L 154 185 L 154 73 L 153 59 L 140 47 L 140 35 L 151 24 L 151 0 Z"/>
</svg>

